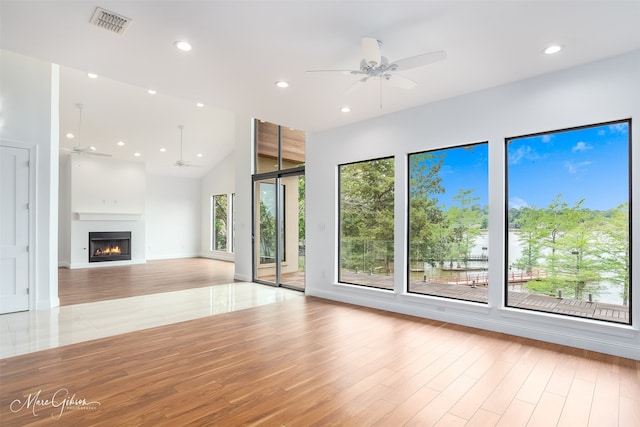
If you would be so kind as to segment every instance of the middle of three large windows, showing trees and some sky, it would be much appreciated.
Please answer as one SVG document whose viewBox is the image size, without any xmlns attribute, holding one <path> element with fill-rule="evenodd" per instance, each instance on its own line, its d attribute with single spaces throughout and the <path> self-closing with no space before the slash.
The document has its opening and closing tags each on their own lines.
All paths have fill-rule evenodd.
<svg viewBox="0 0 640 427">
<path fill-rule="evenodd" d="M 487 302 L 487 149 L 409 155 L 409 292 Z"/>
</svg>

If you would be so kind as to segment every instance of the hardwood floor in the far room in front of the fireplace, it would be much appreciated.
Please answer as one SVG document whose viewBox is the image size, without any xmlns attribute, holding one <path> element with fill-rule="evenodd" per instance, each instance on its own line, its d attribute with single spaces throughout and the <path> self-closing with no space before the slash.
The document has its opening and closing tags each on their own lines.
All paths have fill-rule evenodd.
<svg viewBox="0 0 640 427">
<path fill-rule="evenodd" d="M 233 283 L 234 264 L 208 258 L 117 267 L 58 269 L 60 305 L 82 304 Z"/>
</svg>

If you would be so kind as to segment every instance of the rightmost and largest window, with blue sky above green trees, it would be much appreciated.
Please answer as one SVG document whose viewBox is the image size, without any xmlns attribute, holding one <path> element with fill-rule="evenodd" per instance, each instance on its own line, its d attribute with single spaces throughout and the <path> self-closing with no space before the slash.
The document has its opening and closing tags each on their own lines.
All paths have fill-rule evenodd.
<svg viewBox="0 0 640 427">
<path fill-rule="evenodd" d="M 508 306 L 630 323 L 630 125 L 507 139 Z"/>
</svg>

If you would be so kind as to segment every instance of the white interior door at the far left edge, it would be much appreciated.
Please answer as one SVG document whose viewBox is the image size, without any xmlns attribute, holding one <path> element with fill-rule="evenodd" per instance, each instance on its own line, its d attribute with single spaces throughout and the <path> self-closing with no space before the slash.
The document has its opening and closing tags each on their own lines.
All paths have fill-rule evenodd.
<svg viewBox="0 0 640 427">
<path fill-rule="evenodd" d="M 29 309 L 29 150 L 0 145 L 0 314 Z"/>
</svg>

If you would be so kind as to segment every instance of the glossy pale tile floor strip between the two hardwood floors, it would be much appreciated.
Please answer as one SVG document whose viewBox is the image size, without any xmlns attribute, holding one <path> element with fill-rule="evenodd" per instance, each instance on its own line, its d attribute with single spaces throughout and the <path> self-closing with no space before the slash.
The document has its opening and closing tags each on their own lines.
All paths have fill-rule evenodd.
<svg viewBox="0 0 640 427">
<path fill-rule="evenodd" d="M 236 282 L 0 315 L 0 359 L 272 304 L 303 293 Z"/>
</svg>

